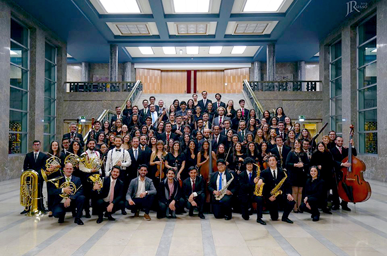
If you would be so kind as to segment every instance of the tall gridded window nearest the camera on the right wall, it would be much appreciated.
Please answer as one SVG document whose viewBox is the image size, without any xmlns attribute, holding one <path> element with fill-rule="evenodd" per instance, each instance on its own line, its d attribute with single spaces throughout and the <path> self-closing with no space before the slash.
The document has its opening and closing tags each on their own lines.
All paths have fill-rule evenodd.
<svg viewBox="0 0 387 256">
<path fill-rule="evenodd" d="M 359 152 L 377 154 L 376 15 L 357 29 Z"/>
</svg>

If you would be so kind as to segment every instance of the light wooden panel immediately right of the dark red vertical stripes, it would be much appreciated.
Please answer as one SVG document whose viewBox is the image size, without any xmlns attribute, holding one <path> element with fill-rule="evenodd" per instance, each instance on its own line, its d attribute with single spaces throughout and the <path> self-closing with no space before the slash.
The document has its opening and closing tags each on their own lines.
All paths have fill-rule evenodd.
<svg viewBox="0 0 387 256">
<path fill-rule="evenodd" d="M 202 91 L 208 93 L 225 92 L 224 71 L 198 70 L 196 72 L 196 90 L 198 93 Z"/>
</svg>

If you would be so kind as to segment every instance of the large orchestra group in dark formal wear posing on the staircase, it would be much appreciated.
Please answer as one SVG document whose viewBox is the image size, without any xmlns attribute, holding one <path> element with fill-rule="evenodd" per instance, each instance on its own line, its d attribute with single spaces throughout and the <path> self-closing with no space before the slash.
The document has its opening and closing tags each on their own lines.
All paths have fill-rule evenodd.
<svg viewBox="0 0 387 256">
<path fill-rule="evenodd" d="M 249 220 L 256 213 L 262 225 L 264 212 L 277 221 L 283 211 L 281 220 L 293 223 L 292 211 L 309 212 L 318 221 L 320 210 L 350 210 L 337 192 L 341 166 L 351 165 L 342 163 L 349 148 L 335 131 L 316 142 L 282 107 L 258 119 L 244 100 L 234 106 L 231 100 L 222 102 L 219 93 L 213 102 L 206 91 L 201 96 L 169 107 L 162 100 L 156 105 L 151 96 L 141 109 L 128 101 L 110 120 L 95 121 L 86 143 L 71 123 L 47 154 L 34 141 L 24 171 L 38 173 L 39 207 L 45 210 L 46 181 L 49 216 L 63 223 L 71 212 L 78 225 L 82 216 L 97 215 L 101 223 L 115 220 L 116 211 L 127 215 L 126 210 L 134 218 L 144 211 L 147 221 L 151 210 L 158 219 L 186 210 L 193 216 L 195 209 L 200 219 L 205 212 L 225 220 L 233 213 Z M 356 155 L 353 145 L 350 140 Z"/>
</svg>

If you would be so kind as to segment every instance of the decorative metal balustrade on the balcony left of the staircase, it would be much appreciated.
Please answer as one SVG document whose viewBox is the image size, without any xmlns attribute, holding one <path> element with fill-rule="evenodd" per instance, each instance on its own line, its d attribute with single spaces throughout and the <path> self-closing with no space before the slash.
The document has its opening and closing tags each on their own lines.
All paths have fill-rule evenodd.
<svg viewBox="0 0 387 256">
<path fill-rule="evenodd" d="M 67 92 L 131 91 L 136 82 L 66 82 Z"/>
</svg>

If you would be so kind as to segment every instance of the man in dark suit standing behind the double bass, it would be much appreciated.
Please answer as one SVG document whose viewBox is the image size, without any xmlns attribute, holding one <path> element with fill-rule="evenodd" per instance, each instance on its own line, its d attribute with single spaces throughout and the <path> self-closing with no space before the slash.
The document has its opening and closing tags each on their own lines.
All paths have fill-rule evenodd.
<svg viewBox="0 0 387 256">
<path fill-rule="evenodd" d="M 338 180 L 340 180 L 340 178 L 342 177 L 342 171 L 341 171 L 341 168 L 342 167 L 350 167 L 351 164 L 348 163 L 348 162 L 345 162 L 345 163 L 341 163 L 341 161 L 348 156 L 348 147 L 343 147 L 343 142 L 344 140 L 342 139 L 341 136 L 337 136 L 336 139 L 335 139 L 335 143 L 336 143 L 336 146 L 331 148 L 331 153 L 332 153 L 332 156 L 333 156 L 333 160 L 335 162 L 335 172 L 336 172 L 336 178 Z M 357 155 L 357 151 L 356 151 L 356 148 L 354 146 L 354 141 L 353 139 L 351 139 L 350 141 L 350 144 L 351 144 L 351 147 L 352 147 L 352 155 L 353 156 L 356 156 Z M 339 199 L 339 195 L 337 193 L 337 188 L 335 188 L 335 186 L 333 186 L 334 188 L 332 189 L 332 196 L 333 196 L 333 210 L 338 210 L 340 208 L 339 206 L 339 202 L 340 202 L 340 199 Z M 351 209 L 348 207 L 348 202 L 345 202 L 343 200 L 341 200 L 341 209 L 345 210 L 345 211 L 351 211 Z"/>
</svg>

